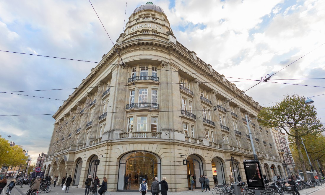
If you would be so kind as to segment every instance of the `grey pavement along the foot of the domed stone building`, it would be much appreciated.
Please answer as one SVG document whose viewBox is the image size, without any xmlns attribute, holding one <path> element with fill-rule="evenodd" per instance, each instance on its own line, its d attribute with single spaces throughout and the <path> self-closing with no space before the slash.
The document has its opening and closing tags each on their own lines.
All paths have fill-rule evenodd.
<svg viewBox="0 0 325 195">
<path fill-rule="evenodd" d="M 53 187 L 53 184 L 51 185 L 52 190 L 46 194 L 48 195 L 53 195 L 53 194 L 65 194 L 64 190 L 61 189 L 61 186 L 56 186 Z M 313 192 L 316 192 L 320 189 L 325 188 L 325 184 L 322 186 L 319 186 L 318 188 L 309 188 L 309 189 L 303 189 L 300 190 L 300 195 L 308 195 L 308 194 L 312 194 Z M 27 190 L 29 189 L 28 185 L 23 185 L 22 188 L 20 188 L 20 186 L 15 186 L 15 189 L 19 191 L 20 194 L 13 194 L 11 193 L 10 195 L 25 195 Z M 172 194 L 172 195 L 182 195 L 182 194 L 188 194 L 188 195 L 212 195 L 212 190 L 210 190 L 210 192 L 202 192 L 201 189 L 195 189 L 194 191 L 182 191 L 182 192 L 168 192 L 168 194 Z M 42 192 L 42 194 L 45 194 L 44 192 Z M 83 195 L 85 194 L 85 188 L 77 188 L 75 186 L 70 186 L 69 189 L 69 193 L 68 195 Z M 130 194 L 139 194 L 139 192 L 106 192 L 106 195 L 130 195 Z M 147 192 L 147 195 L 151 195 L 151 192 Z M 286 193 L 284 193 L 284 195 L 288 195 Z"/>
</svg>

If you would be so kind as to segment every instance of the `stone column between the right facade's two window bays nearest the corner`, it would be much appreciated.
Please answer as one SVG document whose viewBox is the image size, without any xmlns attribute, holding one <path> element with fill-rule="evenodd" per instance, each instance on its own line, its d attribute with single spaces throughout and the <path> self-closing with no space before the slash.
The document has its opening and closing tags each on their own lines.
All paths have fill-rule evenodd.
<svg viewBox="0 0 325 195">
<path fill-rule="evenodd" d="M 193 113 L 196 116 L 196 135 L 197 138 L 199 139 L 203 139 L 206 140 L 205 137 L 205 130 L 204 130 L 204 126 L 203 126 L 203 117 L 202 116 L 202 106 L 201 106 L 201 98 L 200 98 L 200 89 L 199 89 L 199 85 L 201 84 L 201 81 L 198 79 L 194 79 L 192 81 L 192 85 L 193 85 L 193 93 L 194 93 L 194 97 L 193 97 L 193 107 L 194 110 Z M 200 118 L 199 118 L 200 117 Z M 209 144 L 209 143 L 208 143 Z"/>
</svg>

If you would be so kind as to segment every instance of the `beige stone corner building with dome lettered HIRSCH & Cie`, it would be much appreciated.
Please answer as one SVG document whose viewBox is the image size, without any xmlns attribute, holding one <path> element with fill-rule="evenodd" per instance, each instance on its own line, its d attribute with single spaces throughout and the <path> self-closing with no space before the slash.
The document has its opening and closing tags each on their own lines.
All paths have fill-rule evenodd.
<svg viewBox="0 0 325 195">
<path fill-rule="evenodd" d="M 256 120 L 262 107 L 176 41 L 162 8 L 136 8 L 115 47 L 53 115 L 45 174 L 72 175 L 78 187 L 88 174 L 105 176 L 108 191 L 165 176 L 170 191 L 184 191 L 191 174 L 197 188 L 202 174 L 215 185 L 246 180 L 251 142 L 265 169 L 283 172 L 271 130 Z"/>
</svg>

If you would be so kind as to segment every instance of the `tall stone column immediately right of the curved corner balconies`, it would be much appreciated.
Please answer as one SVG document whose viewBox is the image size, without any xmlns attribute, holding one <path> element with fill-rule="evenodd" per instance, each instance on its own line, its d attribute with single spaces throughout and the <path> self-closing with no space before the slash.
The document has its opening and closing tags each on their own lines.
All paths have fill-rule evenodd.
<svg viewBox="0 0 325 195">
<path fill-rule="evenodd" d="M 159 123 L 161 126 L 160 131 L 169 131 L 171 130 L 170 121 L 169 121 L 169 115 L 171 113 L 167 112 L 168 110 L 173 110 L 173 106 L 170 104 L 170 97 L 171 93 L 169 91 L 170 86 L 168 85 L 168 74 L 170 70 L 170 64 L 168 62 L 162 61 L 162 63 L 159 65 L 162 69 L 160 71 L 160 77 L 159 77 L 159 88 L 158 88 L 158 96 L 159 96 L 159 108 L 161 112 L 159 112 Z"/>
</svg>

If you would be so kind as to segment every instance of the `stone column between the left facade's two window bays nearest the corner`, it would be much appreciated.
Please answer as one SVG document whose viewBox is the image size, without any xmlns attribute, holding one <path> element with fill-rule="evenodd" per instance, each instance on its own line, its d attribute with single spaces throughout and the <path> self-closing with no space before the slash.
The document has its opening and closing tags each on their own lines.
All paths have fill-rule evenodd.
<svg viewBox="0 0 325 195">
<path fill-rule="evenodd" d="M 102 82 L 98 82 L 96 84 L 96 86 L 98 87 L 98 91 L 97 91 L 97 96 L 96 96 L 96 105 L 95 105 L 95 109 L 93 112 L 93 118 L 91 120 L 93 120 L 93 124 L 91 126 L 91 132 L 90 132 L 90 139 L 96 139 L 97 136 L 99 136 L 98 131 L 98 121 L 99 121 L 99 115 L 102 114 L 101 110 L 102 110 L 102 94 L 103 94 L 103 83 Z"/>
</svg>

